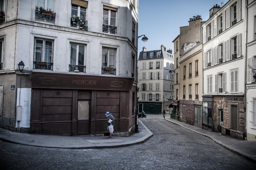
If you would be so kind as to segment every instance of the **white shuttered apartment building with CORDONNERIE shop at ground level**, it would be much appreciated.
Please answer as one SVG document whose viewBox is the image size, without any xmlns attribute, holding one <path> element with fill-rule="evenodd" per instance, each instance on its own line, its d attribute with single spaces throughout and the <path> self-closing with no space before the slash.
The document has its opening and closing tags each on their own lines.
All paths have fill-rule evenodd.
<svg viewBox="0 0 256 170">
<path fill-rule="evenodd" d="M 204 129 L 244 139 L 245 0 L 210 9 L 203 33 Z"/>
</svg>

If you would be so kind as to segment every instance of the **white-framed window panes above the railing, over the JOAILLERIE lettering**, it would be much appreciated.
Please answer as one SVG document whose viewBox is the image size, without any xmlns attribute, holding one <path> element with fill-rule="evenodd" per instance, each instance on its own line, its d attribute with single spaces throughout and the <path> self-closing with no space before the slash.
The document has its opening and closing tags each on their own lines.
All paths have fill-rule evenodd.
<svg viewBox="0 0 256 170">
<path fill-rule="evenodd" d="M 116 49 L 102 47 L 102 67 L 116 68 Z"/>
</svg>

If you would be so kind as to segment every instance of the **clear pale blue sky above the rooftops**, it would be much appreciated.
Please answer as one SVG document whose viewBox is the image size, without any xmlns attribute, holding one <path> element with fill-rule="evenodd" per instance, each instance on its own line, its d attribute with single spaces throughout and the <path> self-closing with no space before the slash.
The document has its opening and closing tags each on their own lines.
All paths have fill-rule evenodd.
<svg viewBox="0 0 256 170">
<path fill-rule="evenodd" d="M 172 41 L 180 34 L 180 27 L 188 26 L 189 18 L 196 15 L 206 21 L 209 10 L 221 2 L 228 0 L 139 0 L 138 36 L 146 35 L 148 41 L 141 41 L 143 36 L 138 39 L 138 56 L 143 46 L 149 51 L 159 50 L 163 44 L 173 50 Z"/>
</svg>

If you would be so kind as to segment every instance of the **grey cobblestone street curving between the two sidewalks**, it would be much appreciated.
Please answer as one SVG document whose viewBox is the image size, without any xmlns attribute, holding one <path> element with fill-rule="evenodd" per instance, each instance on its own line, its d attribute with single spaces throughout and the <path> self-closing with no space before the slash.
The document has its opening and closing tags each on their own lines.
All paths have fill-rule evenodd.
<svg viewBox="0 0 256 170">
<path fill-rule="evenodd" d="M 0 169 L 255 169 L 211 139 L 147 115 L 147 142 L 121 148 L 54 149 L 0 141 Z"/>
</svg>

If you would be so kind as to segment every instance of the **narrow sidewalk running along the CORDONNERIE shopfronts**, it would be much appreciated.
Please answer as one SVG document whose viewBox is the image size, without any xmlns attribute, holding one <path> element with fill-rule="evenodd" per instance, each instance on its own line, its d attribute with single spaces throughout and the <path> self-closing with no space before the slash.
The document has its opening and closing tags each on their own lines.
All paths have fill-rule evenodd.
<svg viewBox="0 0 256 170">
<path fill-rule="evenodd" d="M 198 128 L 193 125 L 189 125 L 185 122 L 178 120 L 170 119 L 170 115 L 165 116 L 165 120 L 170 121 L 176 125 L 179 125 L 183 128 L 196 132 L 200 135 L 209 137 L 214 142 L 223 146 L 224 148 L 256 163 L 256 142 L 255 141 L 243 141 L 229 136 L 221 135 L 220 133 L 210 132 L 202 128 Z"/>
</svg>

